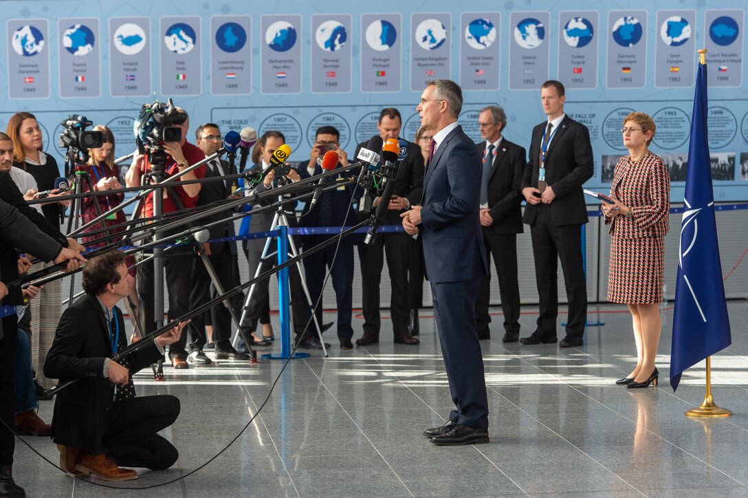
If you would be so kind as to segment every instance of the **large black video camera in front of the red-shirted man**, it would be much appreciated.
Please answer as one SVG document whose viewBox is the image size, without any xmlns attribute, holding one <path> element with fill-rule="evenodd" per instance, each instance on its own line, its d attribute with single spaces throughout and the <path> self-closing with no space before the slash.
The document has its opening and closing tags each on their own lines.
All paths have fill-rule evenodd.
<svg viewBox="0 0 748 498">
<path fill-rule="evenodd" d="M 182 129 L 178 124 L 187 121 L 187 115 L 180 112 L 171 99 L 167 103 L 156 100 L 152 104 L 143 104 L 133 131 L 138 152 L 148 154 L 153 171 L 162 173 L 166 167 L 164 151 L 165 142 L 180 142 Z"/>
</svg>

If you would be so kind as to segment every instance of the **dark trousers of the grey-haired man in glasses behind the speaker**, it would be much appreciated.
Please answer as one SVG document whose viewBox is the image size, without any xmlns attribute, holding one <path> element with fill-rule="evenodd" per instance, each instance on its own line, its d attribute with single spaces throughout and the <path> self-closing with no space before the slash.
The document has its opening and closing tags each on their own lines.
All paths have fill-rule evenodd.
<svg viewBox="0 0 748 498">
<path fill-rule="evenodd" d="M 494 257 L 496 276 L 499 281 L 501 310 L 504 314 L 504 330 L 519 333 L 519 280 L 517 276 L 517 234 L 497 234 L 483 228 L 485 260 Z M 490 263 L 489 263 L 490 264 Z M 478 298 L 475 302 L 475 319 L 478 335 L 488 335 L 488 306 L 491 302 L 491 276 L 480 281 Z"/>
</svg>

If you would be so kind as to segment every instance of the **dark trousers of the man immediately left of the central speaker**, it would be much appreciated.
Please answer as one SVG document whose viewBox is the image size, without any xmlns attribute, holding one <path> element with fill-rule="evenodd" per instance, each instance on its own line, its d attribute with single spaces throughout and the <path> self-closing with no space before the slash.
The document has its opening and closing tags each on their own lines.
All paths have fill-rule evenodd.
<svg viewBox="0 0 748 498">
<path fill-rule="evenodd" d="M 411 252 L 411 236 L 408 234 L 379 234 L 371 246 L 360 244 L 358 258 L 361 260 L 361 286 L 364 288 L 364 332 L 379 335 L 379 284 L 384 254 L 390 271 L 390 315 L 395 336 L 408 332 L 411 321 L 410 294 L 408 293 L 408 260 Z"/>
</svg>

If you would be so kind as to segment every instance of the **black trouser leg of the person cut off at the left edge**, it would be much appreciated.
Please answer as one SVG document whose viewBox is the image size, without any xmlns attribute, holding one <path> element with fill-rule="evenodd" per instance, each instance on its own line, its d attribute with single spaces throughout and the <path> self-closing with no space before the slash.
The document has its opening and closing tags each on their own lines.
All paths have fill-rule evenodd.
<svg viewBox="0 0 748 498">
<path fill-rule="evenodd" d="M 16 340 L 18 318 L 11 315 L 2 319 L 3 337 L 0 339 L 0 419 L 10 428 L 15 427 L 16 419 L 13 410 L 13 367 L 16 364 L 13 356 L 16 354 Z M 23 332 L 21 332 L 23 333 Z M 16 440 L 13 433 L 0 424 L 0 464 L 13 463 L 13 450 Z"/>
</svg>

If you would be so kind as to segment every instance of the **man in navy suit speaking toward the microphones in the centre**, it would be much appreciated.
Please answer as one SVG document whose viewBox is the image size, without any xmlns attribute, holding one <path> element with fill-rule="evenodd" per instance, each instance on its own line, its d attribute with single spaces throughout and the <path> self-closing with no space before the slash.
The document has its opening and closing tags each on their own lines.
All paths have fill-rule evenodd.
<svg viewBox="0 0 748 498">
<path fill-rule="evenodd" d="M 488 400 L 475 327 L 480 279 L 488 273 L 480 231 L 481 166 L 475 144 L 457 124 L 462 88 L 448 79 L 426 83 L 417 111 L 434 136 L 421 205 L 402 213 L 408 234 L 420 231 L 426 278 L 456 410 L 423 435 L 437 445 L 488 443 Z"/>
</svg>

